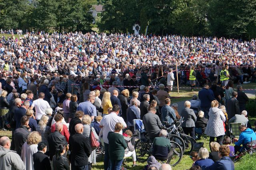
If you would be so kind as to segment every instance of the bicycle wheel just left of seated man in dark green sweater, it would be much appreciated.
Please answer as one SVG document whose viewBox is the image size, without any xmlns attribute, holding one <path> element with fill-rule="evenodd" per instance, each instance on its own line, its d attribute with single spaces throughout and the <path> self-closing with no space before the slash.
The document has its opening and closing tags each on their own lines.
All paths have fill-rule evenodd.
<svg viewBox="0 0 256 170">
<path fill-rule="evenodd" d="M 149 142 L 142 143 L 139 139 L 136 141 L 134 149 L 136 152 L 136 158 L 140 162 L 145 162 L 150 156 L 151 147 Z"/>
</svg>

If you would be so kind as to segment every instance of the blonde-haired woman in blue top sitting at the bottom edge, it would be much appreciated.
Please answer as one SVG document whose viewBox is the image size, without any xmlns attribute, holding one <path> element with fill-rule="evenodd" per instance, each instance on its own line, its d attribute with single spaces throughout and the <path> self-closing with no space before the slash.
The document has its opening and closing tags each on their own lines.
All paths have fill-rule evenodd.
<svg viewBox="0 0 256 170">
<path fill-rule="evenodd" d="M 214 164 L 212 159 L 209 159 L 209 151 L 202 147 L 198 151 L 198 160 L 196 160 L 194 166 L 200 166 L 201 168 L 203 166 L 211 166 Z"/>
</svg>

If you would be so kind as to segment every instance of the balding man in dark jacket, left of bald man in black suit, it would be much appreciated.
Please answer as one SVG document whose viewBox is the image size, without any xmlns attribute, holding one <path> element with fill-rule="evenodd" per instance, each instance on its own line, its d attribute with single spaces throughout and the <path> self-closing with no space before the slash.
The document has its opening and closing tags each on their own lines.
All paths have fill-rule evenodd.
<svg viewBox="0 0 256 170">
<path fill-rule="evenodd" d="M 65 136 L 61 135 L 60 133 L 62 130 L 63 125 L 61 122 L 58 122 L 55 124 L 55 131 L 48 136 L 50 160 L 52 160 L 58 145 L 64 144 L 66 147 L 68 147 Z"/>
</svg>

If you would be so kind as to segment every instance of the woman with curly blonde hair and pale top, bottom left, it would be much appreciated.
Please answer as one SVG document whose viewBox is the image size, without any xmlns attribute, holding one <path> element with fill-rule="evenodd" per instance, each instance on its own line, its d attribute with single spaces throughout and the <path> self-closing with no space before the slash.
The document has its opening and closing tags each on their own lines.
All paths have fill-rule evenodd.
<svg viewBox="0 0 256 170">
<path fill-rule="evenodd" d="M 42 137 L 37 131 L 33 131 L 28 135 L 27 141 L 23 144 L 21 150 L 21 159 L 25 164 L 26 170 L 34 170 L 33 154 L 36 153 L 37 144 L 42 141 Z"/>
</svg>

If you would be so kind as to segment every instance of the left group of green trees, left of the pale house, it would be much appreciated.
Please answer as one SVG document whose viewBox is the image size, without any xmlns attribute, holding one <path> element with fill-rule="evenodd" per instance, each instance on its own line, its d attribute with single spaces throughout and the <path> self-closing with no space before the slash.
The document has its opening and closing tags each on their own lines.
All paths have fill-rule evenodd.
<svg viewBox="0 0 256 170">
<path fill-rule="evenodd" d="M 0 0 L 0 28 L 90 31 L 96 0 Z"/>
</svg>

